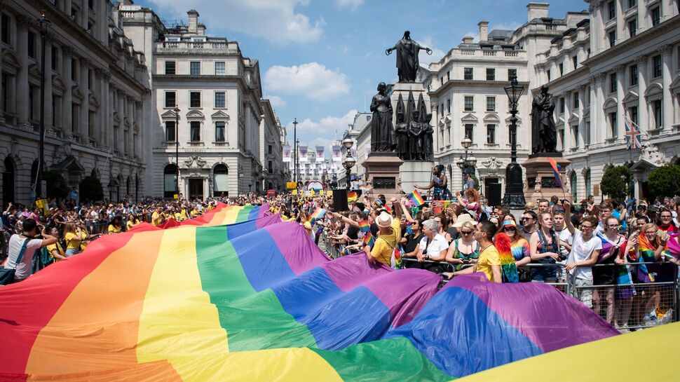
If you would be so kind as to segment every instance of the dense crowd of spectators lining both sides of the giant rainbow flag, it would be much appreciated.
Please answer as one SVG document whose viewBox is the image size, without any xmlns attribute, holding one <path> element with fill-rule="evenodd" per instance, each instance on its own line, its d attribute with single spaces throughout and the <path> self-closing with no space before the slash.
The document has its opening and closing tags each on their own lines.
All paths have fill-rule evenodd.
<svg viewBox="0 0 680 382">
<path fill-rule="evenodd" d="M 590 196 L 578 205 L 552 197 L 527 203 L 513 214 L 508 207 L 488 206 L 469 174 L 465 179 L 463 190 L 451 193 L 442 168 L 435 166 L 433 181 L 416 186 L 428 191 L 422 202 L 405 193 L 388 199 L 370 190 L 351 193 L 346 207 L 325 192 L 306 196 L 302 190 L 222 201 L 269 203 L 284 221 L 304 226 L 332 258 L 365 254 L 376 265 L 440 273 L 443 282 L 477 272 L 490 282 L 545 282 L 624 331 L 672 320 L 680 197 L 596 203 Z M 48 213 L 9 204 L 1 217 L 0 261 L 4 268 L 14 267 L 15 281 L 20 281 L 79 254 L 102 235 L 142 222 L 158 226 L 198 217 L 218 201 L 49 200 Z"/>
</svg>

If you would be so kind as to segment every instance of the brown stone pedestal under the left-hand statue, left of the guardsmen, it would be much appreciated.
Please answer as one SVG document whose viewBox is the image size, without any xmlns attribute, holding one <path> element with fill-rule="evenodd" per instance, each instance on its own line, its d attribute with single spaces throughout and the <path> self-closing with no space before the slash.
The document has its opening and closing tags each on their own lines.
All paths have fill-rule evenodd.
<svg viewBox="0 0 680 382">
<path fill-rule="evenodd" d="M 402 196 L 399 168 L 404 163 L 394 153 L 371 153 L 362 163 L 366 168 L 367 182 L 374 195 L 383 194 L 388 200 Z"/>
</svg>

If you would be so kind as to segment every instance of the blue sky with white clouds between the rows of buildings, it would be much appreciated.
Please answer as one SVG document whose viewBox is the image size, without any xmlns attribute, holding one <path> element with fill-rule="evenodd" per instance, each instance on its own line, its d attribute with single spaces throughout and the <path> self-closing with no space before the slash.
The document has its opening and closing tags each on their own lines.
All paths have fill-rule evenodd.
<svg viewBox="0 0 680 382">
<path fill-rule="evenodd" d="M 341 137 L 356 111 L 365 111 L 380 81 L 397 80 L 395 56 L 385 49 L 410 30 L 412 39 L 439 60 L 477 22 L 515 29 L 526 22 L 528 1 L 371 0 L 144 0 L 165 20 L 184 20 L 196 8 L 207 34 L 239 43 L 259 60 L 264 95 L 281 123 L 300 122 L 301 144 L 327 145 Z M 583 0 L 550 2 L 550 17 L 583 11 Z M 421 64 L 423 64 L 421 59 Z"/>
</svg>

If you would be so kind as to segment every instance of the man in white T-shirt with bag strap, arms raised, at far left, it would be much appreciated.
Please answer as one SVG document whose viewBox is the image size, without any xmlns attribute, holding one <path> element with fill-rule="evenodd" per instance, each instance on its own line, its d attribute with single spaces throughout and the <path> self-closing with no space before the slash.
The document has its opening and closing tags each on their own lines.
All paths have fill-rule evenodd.
<svg viewBox="0 0 680 382">
<path fill-rule="evenodd" d="M 57 243 L 57 238 L 47 233 L 42 227 L 40 235 L 36 235 L 38 225 L 34 219 L 25 219 L 22 233 L 12 235 L 9 239 L 9 250 L 4 268 L 15 269 L 14 282 L 25 280 L 31 275 L 34 254 L 42 247 Z M 19 259 L 19 255 L 21 259 Z M 19 261 L 17 261 L 19 260 Z"/>
</svg>

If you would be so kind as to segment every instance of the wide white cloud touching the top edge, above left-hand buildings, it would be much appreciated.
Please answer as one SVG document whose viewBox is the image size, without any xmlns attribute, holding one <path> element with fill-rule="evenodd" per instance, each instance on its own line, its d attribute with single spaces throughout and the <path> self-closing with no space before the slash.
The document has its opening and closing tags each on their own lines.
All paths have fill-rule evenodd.
<svg viewBox="0 0 680 382">
<path fill-rule="evenodd" d="M 159 9 L 170 8 L 170 14 L 186 24 L 189 5 L 185 0 L 149 1 Z M 301 0 L 222 0 L 218 6 L 213 0 L 193 0 L 191 8 L 200 13 L 198 21 L 208 27 L 208 34 L 211 29 L 224 28 L 287 45 L 317 41 L 323 34 L 323 18 L 310 20 L 304 13 L 296 13 L 297 6 L 307 4 Z"/>
</svg>

